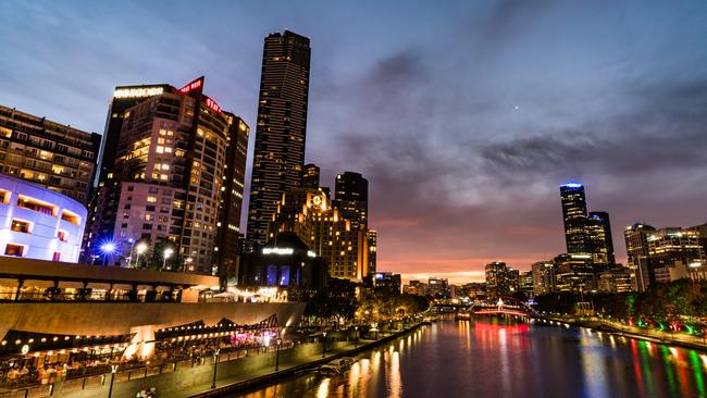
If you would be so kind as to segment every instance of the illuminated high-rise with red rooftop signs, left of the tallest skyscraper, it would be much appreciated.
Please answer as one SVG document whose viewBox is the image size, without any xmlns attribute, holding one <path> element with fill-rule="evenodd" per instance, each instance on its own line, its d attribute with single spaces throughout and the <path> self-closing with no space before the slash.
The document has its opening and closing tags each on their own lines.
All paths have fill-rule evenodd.
<svg viewBox="0 0 707 398">
<path fill-rule="evenodd" d="M 116 87 L 87 256 L 111 241 L 110 263 L 135 265 L 136 242 L 169 245 L 168 268 L 212 273 L 230 256 L 215 253 L 238 246 L 248 126 L 202 90 L 203 77 L 179 89 Z"/>
</svg>

